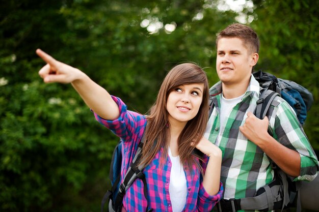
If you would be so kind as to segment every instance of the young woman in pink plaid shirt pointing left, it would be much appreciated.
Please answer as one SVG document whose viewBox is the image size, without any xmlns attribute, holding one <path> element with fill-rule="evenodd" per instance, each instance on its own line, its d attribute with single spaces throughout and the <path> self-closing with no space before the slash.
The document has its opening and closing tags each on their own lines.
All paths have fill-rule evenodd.
<svg viewBox="0 0 319 212">
<path fill-rule="evenodd" d="M 136 179 L 124 195 L 122 211 L 210 211 L 220 200 L 222 153 L 203 138 L 208 82 L 200 67 L 191 63 L 174 67 L 145 116 L 127 110 L 121 99 L 111 96 L 82 71 L 40 49 L 36 52 L 47 63 L 39 71 L 44 82 L 71 83 L 98 122 L 122 139 L 121 180 L 144 134 L 140 165 L 144 167 L 148 196 L 144 197 L 142 180 Z M 194 154 L 195 147 L 203 157 Z"/>
</svg>

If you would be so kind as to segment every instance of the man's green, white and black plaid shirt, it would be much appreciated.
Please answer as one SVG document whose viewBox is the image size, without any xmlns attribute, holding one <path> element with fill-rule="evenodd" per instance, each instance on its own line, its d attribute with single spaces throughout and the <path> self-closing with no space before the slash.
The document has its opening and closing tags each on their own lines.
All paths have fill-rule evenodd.
<svg viewBox="0 0 319 212">
<path fill-rule="evenodd" d="M 222 83 L 218 82 L 209 91 L 215 107 L 210 115 L 205 137 L 223 152 L 221 181 L 224 185 L 224 199 L 254 197 L 256 191 L 269 184 L 274 177 L 270 158 L 239 130 L 245 123 L 247 112 L 254 112 L 256 108 L 260 94 L 259 83 L 251 76 L 242 101 L 226 115 L 225 126 L 220 126 L 219 116 Z M 281 98 L 275 100 L 279 105 L 271 106 L 267 113 L 269 130 L 278 142 L 300 154 L 300 176 L 294 180 L 312 180 L 319 166 L 308 138 L 289 104 Z"/>
</svg>

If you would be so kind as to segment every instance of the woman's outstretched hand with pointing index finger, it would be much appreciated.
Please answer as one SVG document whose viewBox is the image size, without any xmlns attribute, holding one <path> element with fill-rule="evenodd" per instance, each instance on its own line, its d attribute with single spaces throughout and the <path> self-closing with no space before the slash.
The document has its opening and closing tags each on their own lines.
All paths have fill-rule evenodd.
<svg viewBox="0 0 319 212">
<path fill-rule="evenodd" d="M 46 83 L 70 83 L 85 76 L 80 70 L 59 62 L 41 49 L 37 49 L 36 53 L 47 63 L 39 71 L 40 77 L 43 78 L 43 81 Z"/>
</svg>

